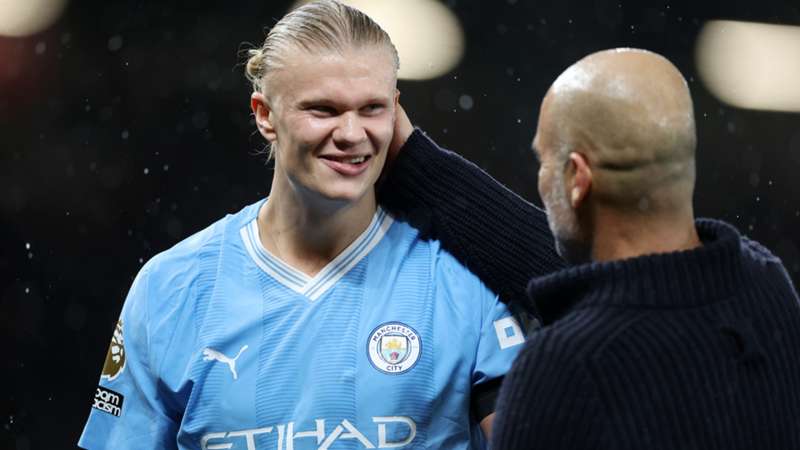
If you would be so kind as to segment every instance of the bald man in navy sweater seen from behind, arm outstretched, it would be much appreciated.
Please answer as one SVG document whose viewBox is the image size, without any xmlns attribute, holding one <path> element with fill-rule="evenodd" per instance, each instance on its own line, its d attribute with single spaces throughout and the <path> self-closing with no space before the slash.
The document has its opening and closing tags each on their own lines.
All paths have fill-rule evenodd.
<svg viewBox="0 0 800 450">
<path fill-rule="evenodd" d="M 539 210 L 398 124 L 386 203 L 520 292 Z M 686 81 L 654 53 L 592 54 L 547 92 L 539 191 L 574 266 L 528 286 L 544 326 L 503 383 L 494 450 L 800 448 L 800 301 L 767 249 L 694 219 L 695 146 Z"/>
</svg>

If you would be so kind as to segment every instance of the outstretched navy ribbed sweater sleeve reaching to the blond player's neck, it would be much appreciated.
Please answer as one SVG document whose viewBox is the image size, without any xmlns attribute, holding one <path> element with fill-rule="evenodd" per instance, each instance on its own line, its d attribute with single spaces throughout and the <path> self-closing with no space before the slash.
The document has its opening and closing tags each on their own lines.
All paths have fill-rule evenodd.
<svg viewBox="0 0 800 450">
<path fill-rule="evenodd" d="M 379 201 L 438 239 L 506 302 L 527 305 L 528 281 L 564 267 L 544 211 L 419 129 L 400 150 Z"/>
</svg>

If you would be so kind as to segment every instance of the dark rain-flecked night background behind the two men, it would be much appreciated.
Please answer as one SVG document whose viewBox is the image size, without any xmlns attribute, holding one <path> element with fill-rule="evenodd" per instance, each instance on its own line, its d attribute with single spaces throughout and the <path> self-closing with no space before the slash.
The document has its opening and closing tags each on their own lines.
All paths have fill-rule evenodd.
<svg viewBox="0 0 800 450">
<path fill-rule="evenodd" d="M 798 25 L 797 2 L 446 3 L 464 59 L 400 84 L 440 144 L 540 204 L 528 149 L 552 80 L 596 50 L 660 52 L 695 98 L 697 214 L 764 243 L 797 284 L 800 114 L 723 105 L 693 60 L 706 20 Z M 288 7 L 74 0 L 49 30 L 0 38 L 0 448 L 74 448 L 144 261 L 268 192 L 238 53 Z"/>
</svg>

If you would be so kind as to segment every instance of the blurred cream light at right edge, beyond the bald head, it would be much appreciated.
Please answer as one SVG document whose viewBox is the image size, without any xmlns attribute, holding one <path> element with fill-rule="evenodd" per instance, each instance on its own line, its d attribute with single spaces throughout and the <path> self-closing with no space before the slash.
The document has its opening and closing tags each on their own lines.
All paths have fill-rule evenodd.
<svg viewBox="0 0 800 450">
<path fill-rule="evenodd" d="M 698 37 L 706 87 L 734 106 L 800 112 L 800 27 L 715 20 Z"/>
</svg>

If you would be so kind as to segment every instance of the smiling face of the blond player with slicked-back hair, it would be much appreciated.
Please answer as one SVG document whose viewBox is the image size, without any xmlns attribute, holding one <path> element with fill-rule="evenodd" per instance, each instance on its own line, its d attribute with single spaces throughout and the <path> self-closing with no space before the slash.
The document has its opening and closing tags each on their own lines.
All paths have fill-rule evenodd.
<svg viewBox="0 0 800 450">
<path fill-rule="evenodd" d="M 394 128 L 391 54 L 375 46 L 287 60 L 268 83 L 268 130 L 259 126 L 276 144 L 276 171 L 301 195 L 348 203 L 373 195 Z"/>
</svg>

